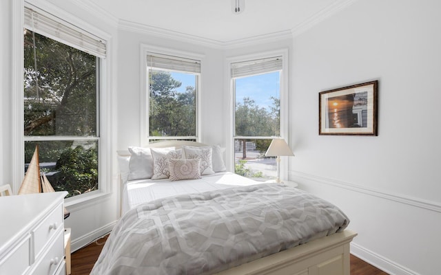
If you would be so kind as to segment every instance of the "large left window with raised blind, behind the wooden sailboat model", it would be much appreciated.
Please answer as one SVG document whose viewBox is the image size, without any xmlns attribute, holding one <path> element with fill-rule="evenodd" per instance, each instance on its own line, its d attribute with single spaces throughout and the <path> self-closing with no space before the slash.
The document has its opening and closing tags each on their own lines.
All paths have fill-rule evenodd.
<svg viewBox="0 0 441 275">
<path fill-rule="evenodd" d="M 24 170 L 39 145 L 41 172 L 68 197 L 99 189 L 99 72 L 105 43 L 25 7 Z"/>
</svg>

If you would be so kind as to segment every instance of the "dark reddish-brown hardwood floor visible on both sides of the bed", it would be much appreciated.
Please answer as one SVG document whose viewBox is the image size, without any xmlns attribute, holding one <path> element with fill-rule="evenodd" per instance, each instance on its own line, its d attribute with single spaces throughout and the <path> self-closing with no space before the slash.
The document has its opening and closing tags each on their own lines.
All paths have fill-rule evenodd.
<svg viewBox="0 0 441 275">
<path fill-rule="evenodd" d="M 90 243 L 90 245 L 72 253 L 72 275 L 90 273 L 106 240 L 107 236 L 104 236 L 98 241 Z M 387 275 L 387 273 L 351 255 L 351 275 Z"/>
</svg>

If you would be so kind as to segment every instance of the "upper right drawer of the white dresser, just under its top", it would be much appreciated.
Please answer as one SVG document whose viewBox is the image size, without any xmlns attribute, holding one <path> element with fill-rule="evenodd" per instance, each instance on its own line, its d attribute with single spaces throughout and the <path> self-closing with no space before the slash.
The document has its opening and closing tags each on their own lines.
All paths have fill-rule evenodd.
<svg viewBox="0 0 441 275">
<path fill-rule="evenodd" d="M 55 208 L 48 216 L 32 230 L 34 235 L 34 259 L 39 258 L 39 254 L 44 245 L 59 232 L 59 228 L 63 226 L 63 208 L 62 205 Z"/>
</svg>

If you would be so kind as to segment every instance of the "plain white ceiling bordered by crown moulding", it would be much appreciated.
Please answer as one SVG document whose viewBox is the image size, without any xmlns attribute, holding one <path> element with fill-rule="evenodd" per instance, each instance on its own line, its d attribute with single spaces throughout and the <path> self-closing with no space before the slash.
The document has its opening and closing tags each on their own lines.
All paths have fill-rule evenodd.
<svg viewBox="0 0 441 275">
<path fill-rule="evenodd" d="M 216 43 L 298 32 L 354 0 L 76 0 L 123 24 L 176 32 Z M 233 6 L 233 7 L 232 7 Z"/>
</svg>

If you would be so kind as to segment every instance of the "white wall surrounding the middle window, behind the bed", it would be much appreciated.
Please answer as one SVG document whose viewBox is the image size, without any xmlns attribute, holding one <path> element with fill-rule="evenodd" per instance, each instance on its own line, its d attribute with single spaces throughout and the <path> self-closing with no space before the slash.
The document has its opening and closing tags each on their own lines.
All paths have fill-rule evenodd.
<svg viewBox="0 0 441 275">
<path fill-rule="evenodd" d="M 141 56 L 140 45 L 163 47 L 203 56 L 201 61 L 201 142 L 225 144 L 223 131 L 223 52 L 203 45 L 158 38 L 139 30 L 119 31 L 118 56 L 118 149 L 141 144 Z M 216 125 L 213 127 L 213 125 Z"/>
</svg>

